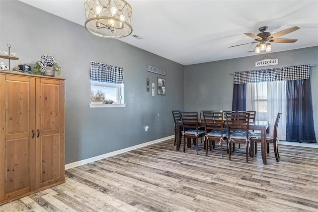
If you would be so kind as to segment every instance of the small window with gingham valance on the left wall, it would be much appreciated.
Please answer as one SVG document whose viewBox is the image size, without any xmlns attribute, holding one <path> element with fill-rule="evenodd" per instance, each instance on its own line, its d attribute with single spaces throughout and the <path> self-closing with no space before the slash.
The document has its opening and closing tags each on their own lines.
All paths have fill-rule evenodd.
<svg viewBox="0 0 318 212">
<path fill-rule="evenodd" d="M 104 106 L 110 106 L 110 104 L 111 106 L 124 104 L 123 68 L 91 62 L 89 79 L 91 89 L 91 107 L 101 104 Z"/>
</svg>

